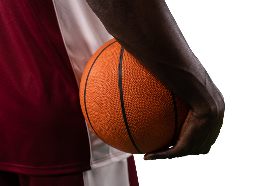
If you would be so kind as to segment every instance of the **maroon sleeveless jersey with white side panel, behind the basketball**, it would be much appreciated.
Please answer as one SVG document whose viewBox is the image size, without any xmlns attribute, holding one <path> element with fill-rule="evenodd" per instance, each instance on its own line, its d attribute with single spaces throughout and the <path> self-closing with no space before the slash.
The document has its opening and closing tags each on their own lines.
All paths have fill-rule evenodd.
<svg viewBox="0 0 280 186">
<path fill-rule="evenodd" d="M 89 129 L 79 85 L 113 37 L 85 0 L 0 0 L 0 170 L 61 175 L 121 161 Z"/>
</svg>

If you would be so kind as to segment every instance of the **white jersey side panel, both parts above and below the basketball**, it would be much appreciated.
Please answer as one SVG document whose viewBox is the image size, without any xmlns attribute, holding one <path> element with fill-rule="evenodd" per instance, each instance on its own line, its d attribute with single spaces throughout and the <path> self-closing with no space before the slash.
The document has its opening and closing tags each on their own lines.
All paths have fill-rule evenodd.
<svg viewBox="0 0 280 186">
<path fill-rule="evenodd" d="M 85 0 L 53 0 L 53 4 L 62 38 L 80 88 L 81 76 L 88 60 L 113 37 Z M 94 135 L 89 127 L 88 136 L 92 169 L 124 160 L 132 155 L 104 143 Z"/>
</svg>

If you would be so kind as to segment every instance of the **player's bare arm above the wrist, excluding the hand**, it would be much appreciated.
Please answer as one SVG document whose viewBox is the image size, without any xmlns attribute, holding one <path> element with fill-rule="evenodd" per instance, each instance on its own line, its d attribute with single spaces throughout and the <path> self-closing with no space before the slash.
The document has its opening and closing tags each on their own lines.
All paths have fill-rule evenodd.
<svg viewBox="0 0 280 186">
<path fill-rule="evenodd" d="M 87 0 L 106 30 L 199 115 L 224 106 L 165 1 Z M 191 25 L 190 25 L 191 27 Z"/>
</svg>

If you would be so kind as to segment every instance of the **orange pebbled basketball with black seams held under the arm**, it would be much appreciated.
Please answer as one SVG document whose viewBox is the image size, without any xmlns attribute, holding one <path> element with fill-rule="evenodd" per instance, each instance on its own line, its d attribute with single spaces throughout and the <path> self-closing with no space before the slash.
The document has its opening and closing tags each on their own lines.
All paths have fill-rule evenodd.
<svg viewBox="0 0 280 186">
<path fill-rule="evenodd" d="M 92 132 L 108 145 L 147 154 L 174 145 L 188 104 L 111 39 L 88 61 L 80 103 Z"/>
</svg>

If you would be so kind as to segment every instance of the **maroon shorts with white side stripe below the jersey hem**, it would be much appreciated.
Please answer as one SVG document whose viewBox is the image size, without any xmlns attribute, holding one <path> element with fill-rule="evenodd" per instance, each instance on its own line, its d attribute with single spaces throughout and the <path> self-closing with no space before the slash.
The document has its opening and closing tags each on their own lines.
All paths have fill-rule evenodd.
<svg viewBox="0 0 280 186">
<path fill-rule="evenodd" d="M 139 186 L 134 155 L 107 166 L 58 176 L 28 176 L 0 171 L 1 186 Z"/>
</svg>

